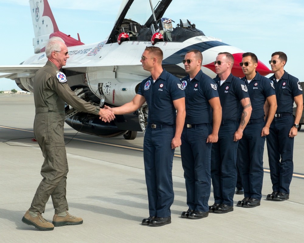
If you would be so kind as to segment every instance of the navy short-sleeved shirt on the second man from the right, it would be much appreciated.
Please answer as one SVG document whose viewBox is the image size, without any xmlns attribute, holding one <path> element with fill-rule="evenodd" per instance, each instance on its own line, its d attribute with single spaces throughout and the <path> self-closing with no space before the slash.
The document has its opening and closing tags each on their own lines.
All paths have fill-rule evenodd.
<svg viewBox="0 0 304 243">
<path fill-rule="evenodd" d="M 269 80 L 256 72 L 255 77 L 250 81 L 246 79 L 246 76 L 242 78 L 244 84 L 247 86 L 250 102 L 252 106 L 252 112 L 250 119 L 264 118 L 264 104 L 266 98 L 275 94 L 275 87 Z"/>
</svg>

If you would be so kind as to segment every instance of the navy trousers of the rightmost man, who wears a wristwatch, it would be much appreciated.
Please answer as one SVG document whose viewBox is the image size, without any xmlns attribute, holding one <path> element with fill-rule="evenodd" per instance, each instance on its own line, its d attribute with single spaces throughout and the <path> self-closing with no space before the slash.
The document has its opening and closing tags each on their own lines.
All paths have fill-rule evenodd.
<svg viewBox="0 0 304 243">
<path fill-rule="evenodd" d="M 294 138 L 289 138 L 288 134 L 293 122 L 292 114 L 275 117 L 270 125 L 269 135 L 266 137 L 273 191 L 289 193 L 293 174 Z"/>
</svg>

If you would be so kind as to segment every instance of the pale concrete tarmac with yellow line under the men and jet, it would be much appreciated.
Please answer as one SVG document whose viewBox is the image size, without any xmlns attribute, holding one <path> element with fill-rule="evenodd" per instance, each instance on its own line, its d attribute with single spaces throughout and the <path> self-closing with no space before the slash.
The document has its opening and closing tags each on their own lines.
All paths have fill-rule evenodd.
<svg viewBox="0 0 304 243">
<path fill-rule="evenodd" d="M 141 225 L 142 219 L 149 216 L 143 133 L 134 140 L 123 136 L 101 138 L 77 134 L 65 125 L 69 212 L 82 217 L 84 223 L 40 231 L 21 221 L 42 179 L 43 156 L 37 142 L 31 140 L 33 95 L 1 94 L 0 114 L 1 242 L 303 242 L 304 128 L 295 137 L 289 200 L 266 200 L 272 184 L 265 144 L 261 206 L 237 207 L 244 195 L 235 195 L 233 212 L 210 213 L 200 220 L 181 218 L 181 212 L 188 207 L 180 150 L 176 149 L 172 223 L 150 227 Z M 211 189 L 209 205 L 213 203 Z M 51 222 L 53 215 L 50 199 L 43 217 Z"/>
</svg>

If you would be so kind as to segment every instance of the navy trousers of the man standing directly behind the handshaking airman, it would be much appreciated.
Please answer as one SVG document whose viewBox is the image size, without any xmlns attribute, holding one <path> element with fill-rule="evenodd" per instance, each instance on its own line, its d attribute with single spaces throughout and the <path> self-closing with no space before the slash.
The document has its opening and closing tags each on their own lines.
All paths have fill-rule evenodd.
<svg viewBox="0 0 304 243">
<path fill-rule="evenodd" d="M 211 126 L 183 129 L 181 135 L 181 163 L 190 210 L 209 211 L 208 200 L 211 190 L 211 143 L 206 143 Z"/>
</svg>

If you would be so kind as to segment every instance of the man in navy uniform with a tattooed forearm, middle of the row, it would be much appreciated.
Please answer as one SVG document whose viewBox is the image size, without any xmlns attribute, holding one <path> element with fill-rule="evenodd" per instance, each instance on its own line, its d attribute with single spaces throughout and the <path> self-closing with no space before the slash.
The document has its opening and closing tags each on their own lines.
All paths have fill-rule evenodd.
<svg viewBox="0 0 304 243">
<path fill-rule="evenodd" d="M 237 183 L 237 145 L 251 114 L 251 103 L 246 85 L 231 74 L 234 58 L 231 53 L 219 53 L 214 62 L 219 75 L 217 90 L 222 106 L 222 121 L 218 142 L 212 144 L 211 178 L 214 204 L 209 212 L 233 211 L 233 196 Z M 238 122 L 239 106 L 243 112 Z"/>
</svg>

